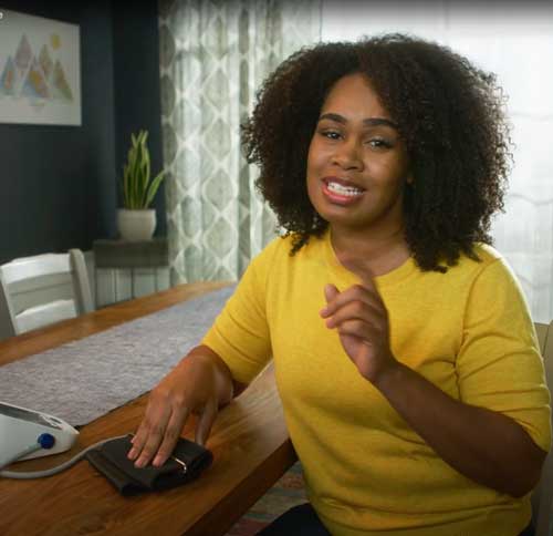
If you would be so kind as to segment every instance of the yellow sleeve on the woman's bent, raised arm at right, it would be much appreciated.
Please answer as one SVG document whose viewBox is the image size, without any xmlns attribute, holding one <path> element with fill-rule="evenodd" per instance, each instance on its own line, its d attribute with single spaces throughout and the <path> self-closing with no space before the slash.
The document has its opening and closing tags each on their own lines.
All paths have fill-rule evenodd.
<svg viewBox="0 0 553 536">
<path fill-rule="evenodd" d="M 510 416 L 550 450 L 550 392 L 538 338 L 522 289 L 501 258 L 472 284 L 457 372 L 463 402 Z"/>
</svg>

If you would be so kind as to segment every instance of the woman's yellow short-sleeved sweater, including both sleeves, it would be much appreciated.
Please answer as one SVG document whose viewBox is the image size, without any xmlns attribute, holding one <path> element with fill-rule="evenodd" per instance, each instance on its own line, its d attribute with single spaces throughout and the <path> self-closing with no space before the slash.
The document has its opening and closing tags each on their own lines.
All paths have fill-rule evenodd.
<svg viewBox="0 0 553 536">
<path fill-rule="evenodd" d="M 462 476 L 414 432 L 343 351 L 319 311 L 323 288 L 358 282 L 328 238 L 290 257 L 290 238 L 258 256 L 204 343 L 249 383 L 274 358 L 290 436 L 310 501 L 338 536 L 515 536 L 517 499 Z M 550 394 L 521 289 L 500 255 L 479 246 L 444 274 L 413 259 L 377 277 L 396 359 L 450 396 L 519 422 L 551 442 Z"/>
</svg>

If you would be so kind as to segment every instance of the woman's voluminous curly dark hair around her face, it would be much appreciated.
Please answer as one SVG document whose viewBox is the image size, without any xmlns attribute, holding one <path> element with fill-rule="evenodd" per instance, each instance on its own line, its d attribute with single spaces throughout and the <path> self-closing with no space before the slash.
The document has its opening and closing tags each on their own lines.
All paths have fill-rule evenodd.
<svg viewBox="0 0 553 536">
<path fill-rule="evenodd" d="M 495 78 L 440 44 L 398 33 L 301 49 L 265 80 L 242 124 L 257 187 L 293 236 L 294 255 L 327 227 L 307 197 L 307 152 L 335 82 L 364 73 L 398 125 L 414 182 L 405 186 L 405 238 L 422 270 L 447 271 L 474 243 L 492 244 L 503 210 L 510 127 Z"/>
</svg>

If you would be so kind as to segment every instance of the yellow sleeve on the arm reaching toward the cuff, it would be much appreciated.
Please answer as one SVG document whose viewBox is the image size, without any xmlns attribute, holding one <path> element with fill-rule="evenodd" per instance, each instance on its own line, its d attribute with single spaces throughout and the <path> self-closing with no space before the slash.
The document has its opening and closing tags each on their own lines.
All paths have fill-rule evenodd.
<svg viewBox="0 0 553 536">
<path fill-rule="evenodd" d="M 255 257 L 240 279 L 202 344 L 213 350 L 240 383 L 250 383 L 271 359 L 270 329 L 267 320 L 267 280 L 276 238 Z"/>
</svg>

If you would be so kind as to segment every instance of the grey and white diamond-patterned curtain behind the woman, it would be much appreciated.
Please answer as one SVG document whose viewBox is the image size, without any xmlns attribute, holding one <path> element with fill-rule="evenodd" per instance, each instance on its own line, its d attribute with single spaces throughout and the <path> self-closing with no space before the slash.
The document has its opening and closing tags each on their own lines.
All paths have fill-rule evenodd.
<svg viewBox="0 0 553 536">
<path fill-rule="evenodd" d="M 171 284 L 238 279 L 276 233 L 240 123 L 264 78 L 319 41 L 320 1 L 160 0 L 159 34 Z"/>
</svg>

